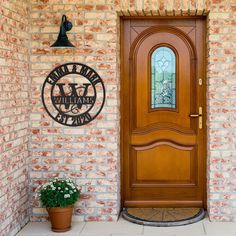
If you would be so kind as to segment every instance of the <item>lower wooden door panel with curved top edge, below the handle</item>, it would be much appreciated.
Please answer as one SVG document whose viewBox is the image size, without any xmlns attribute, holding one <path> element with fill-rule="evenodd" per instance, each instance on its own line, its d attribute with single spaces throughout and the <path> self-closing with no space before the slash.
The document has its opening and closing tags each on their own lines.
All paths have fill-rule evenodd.
<svg viewBox="0 0 236 236">
<path fill-rule="evenodd" d="M 150 147 L 150 146 L 149 146 Z M 140 150 L 141 149 L 141 150 Z M 171 184 L 192 182 L 191 152 L 193 147 L 181 147 L 169 143 L 150 148 L 136 148 L 136 181 Z M 194 155 L 192 155 L 193 157 Z M 171 163 L 171 165 L 170 165 Z"/>
</svg>

